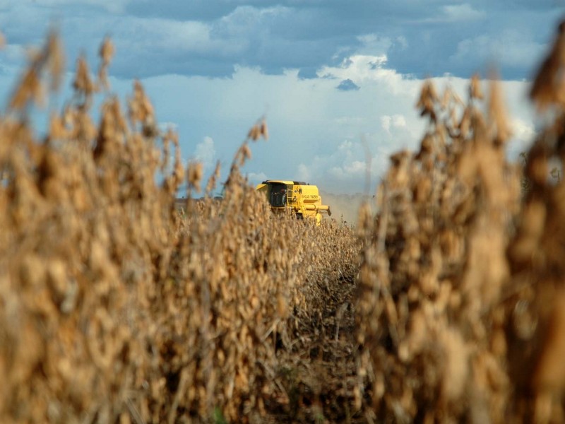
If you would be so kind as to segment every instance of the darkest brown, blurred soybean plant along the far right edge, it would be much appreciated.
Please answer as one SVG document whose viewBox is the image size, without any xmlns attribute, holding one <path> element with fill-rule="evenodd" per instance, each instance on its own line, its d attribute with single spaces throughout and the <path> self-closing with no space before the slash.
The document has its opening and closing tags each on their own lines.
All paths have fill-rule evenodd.
<svg viewBox="0 0 565 424">
<path fill-rule="evenodd" d="M 516 422 L 565 420 L 565 23 L 530 91 L 553 117 L 527 155 L 528 192 L 508 249 L 512 285 L 506 311 L 509 375 Z"/>
</svg>

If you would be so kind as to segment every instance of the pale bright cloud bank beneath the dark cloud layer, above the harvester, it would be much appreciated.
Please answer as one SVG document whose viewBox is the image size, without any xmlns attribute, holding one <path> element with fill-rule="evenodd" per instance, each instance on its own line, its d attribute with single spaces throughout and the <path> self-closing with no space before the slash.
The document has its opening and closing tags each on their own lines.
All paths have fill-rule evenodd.
<svg viewBox="0 0 565 424">
<path fill-rule="evenodd" d="M 250 146 L 253 158 L 244 173 L 251 182 L 299 179 L 326 192 L 355 193 L 364 191 L 369 161 L 372 190 L 386 172 L 390 155 L 416 149 L 426 126 L 415 110 L 423 81 L 403 78 L 383 68 L 384 63 L 374 57 L 352 57 L 343 66 L 326 66 L 319 78 L 307 80 L 292 70 L 266 75 L 239 67 L 232 78 L 148 78 L 146 90 L 155 97 L 160 116 L 183 123 L 179 131 L 184 154 L 191 153 L 191 139 L 204 139 L 194 154 L 208 163 L 220 155 L 224 175 L 249 127 L 264 115 L 270 139 Z M 335 89 L 332 76 L 353 75 L 363 81 L 360 90 Z M 434 78 L 434 83 L 440 94 L 451 86 L 460 98 L 467 97 L 467 80 L 442 77 Z M 533 128 L 526 88 L 523 82 L 503 83 L 509 115 L 518 119 L 516 137 L 521 134 L 525 139 Z M 187 97 L 199 101 L 186 102 Z"/>
</svg>

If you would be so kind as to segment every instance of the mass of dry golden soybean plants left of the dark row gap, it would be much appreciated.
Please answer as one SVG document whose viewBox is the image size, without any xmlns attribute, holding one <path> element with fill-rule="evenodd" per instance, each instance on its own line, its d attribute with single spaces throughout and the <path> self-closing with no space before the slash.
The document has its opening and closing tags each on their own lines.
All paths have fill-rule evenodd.
<svg viewBox="0 0 565 424">
<path fill-rule="evenodd" d="M 239 170 L 265 122 L 225 199 L 178 213 L 202 167 L 183 167 L 141 83 L 126 107 L 106 91 L 113 54 L 105 40 L 95 78 L 78 59 L 73 98 L 40 138 L 30 111 L 64 69 L 50 35 L 0 117 L 0 421 L 263 422 L 289 404 L 279 358 L 315 314 L 310 282 L 353 281 L 357 241 L 335 223 L 271 218 Z"/>
</svg>

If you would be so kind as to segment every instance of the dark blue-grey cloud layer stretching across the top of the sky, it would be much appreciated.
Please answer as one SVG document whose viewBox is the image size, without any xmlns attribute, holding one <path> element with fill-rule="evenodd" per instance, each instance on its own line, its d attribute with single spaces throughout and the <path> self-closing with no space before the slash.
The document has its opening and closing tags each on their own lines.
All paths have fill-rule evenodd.
<svg viewBox="0 0 565 424">
<path fill-rule="evenodd" d="M 564 0 L 50 0 L 10 3 L 0 10 L 8 42 L 37 44 L 58 23 L 71 57 L 93 56 L 112 36 L 114 75 L 179 73 L 230 76 L 234 66 L 265 73 L 321 66 L 349 55 L 386 54 L 387 66 L 418 78 L 449 73 L 468 78 L 498 66 L 504 78 L 528 78 L 552 39 Z M 371 41 L 372 40 L 372 41 Z M 376 41 L 375 41 L 376 40 Z M 521 57 L 520 51 L 523 52 Z"/>
</svg>

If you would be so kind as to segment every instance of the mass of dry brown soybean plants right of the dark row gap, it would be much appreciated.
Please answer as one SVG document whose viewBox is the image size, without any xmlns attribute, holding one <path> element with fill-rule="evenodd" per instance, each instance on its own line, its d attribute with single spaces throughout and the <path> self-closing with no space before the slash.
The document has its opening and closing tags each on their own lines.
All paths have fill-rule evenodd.
<svg viewBox="0 0 565 424">
<path fill-rule="evenodd" d="M 357 407 L 396 423 L 561 423 L 565 419 L 562 211 L 564 25 L 532 88 L 554 120 L 521 172 L 496 78 L 463 104 L 429 81 L 417 153 L 391 157 L 381 213 L 361 211 Z"/>
</svg>

